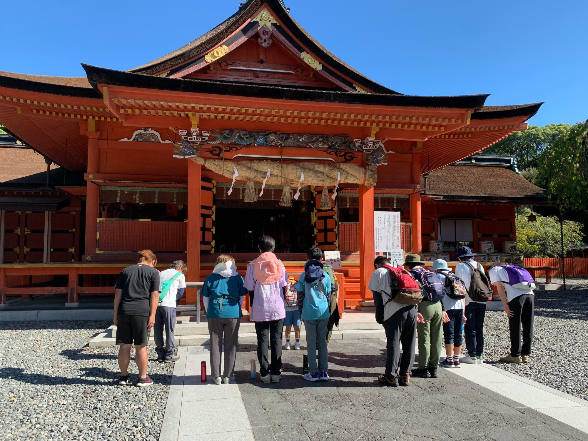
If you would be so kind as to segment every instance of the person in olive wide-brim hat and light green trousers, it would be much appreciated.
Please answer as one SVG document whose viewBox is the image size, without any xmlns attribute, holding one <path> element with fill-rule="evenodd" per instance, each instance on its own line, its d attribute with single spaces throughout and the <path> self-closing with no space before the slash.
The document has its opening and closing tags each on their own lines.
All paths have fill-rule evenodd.
<svg viewBox="0 0 588 441">
<path fill-rule="evenodd" d="M 410 274 L 417 280 L 421 286 L 425 286 L 425 278 L 427 280 L 435 279 L 436 283 L 430 286 L 435 289 L 437 294 L 442 294 L 445 288 L 440 286 L 440 281 L 436 276 L 430 274 L 430 271 L 425 269 L 425 262 L 420 259 L 417 254 L 409 254 L 406 256 L 405 267 Z M 439 367 L 439 359 L 441 358 L 441 349 L 443 346 L 443 315 L 442 303 L 439 296 L 433 296 L 432 290 L 422 289 L 423 301 L 419 303 L 419 313 L 416 324 L 416 333 L 418 335 L 419 345 L 419 367 L 412 370 L 412 376 L 421 378 L 437 378 L 437 368 Z M 430 297 L 426 296 L 430 293 Z M 427 300 L 427 299 L 431 300 Z M 433 298 L 436 298 L 433 300 Z"/>
</svg>

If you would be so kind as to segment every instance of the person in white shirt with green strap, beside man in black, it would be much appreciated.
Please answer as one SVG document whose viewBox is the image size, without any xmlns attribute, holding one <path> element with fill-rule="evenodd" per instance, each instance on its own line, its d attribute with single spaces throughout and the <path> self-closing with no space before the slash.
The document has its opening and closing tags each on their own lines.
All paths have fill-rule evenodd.
<svg viewBox="0 0 588 441">
<path fill-rule="evenodd" d="M 176 346 L 173 331 L 176 326 L 176 300 L 182 297 L 186 289 L 186 278 L 184 276 L 186 272 L 188 272 L 186 263 L 183 260 L 175 260 L 169 266 L 169 269 L 165 269 L 159 273 L 160 283 L 163 284 L 167 280 L 173 280 L 168 293 L 159 302 L 155 313 L 153 338 L 155 339 L 155 351 L 157 352 L 158 362 L 171 363 L 180 358 L 175 352 Z M 163 328 L 165 328 L 165 345 L 163 344 Z"/>
</svg>

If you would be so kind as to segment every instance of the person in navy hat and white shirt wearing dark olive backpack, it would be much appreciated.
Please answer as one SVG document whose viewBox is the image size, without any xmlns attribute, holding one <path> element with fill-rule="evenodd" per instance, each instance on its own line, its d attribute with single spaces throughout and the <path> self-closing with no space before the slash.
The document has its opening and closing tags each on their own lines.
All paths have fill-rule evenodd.
<svg viewBox="0 0 588 441">
<path fill-rule="evenodd" d="M 467 289 L 470 289 L 472 283 L 472 267 L 480 268 L 484 271 L 484 267 L 476 262 L 473 258 L 476 253 L 472 253 L 472 249 L 467 246 L 460 246 L 457 249 L 456 258 L 459 259 L 455 267 L 455 276 L 459 277 L 466 284 Z M 466 336 L 466 350 L 467 356 L 462 358 L 463 363 L 470 363 L 472 365 L 483 363 L 482 352 L 484 351 L 484 318 L 486 316 L 486 302 L 476 302 L 470 296 L 465 299 L 465 317 L 466 323 L 463 326 Z"/>
</svg>

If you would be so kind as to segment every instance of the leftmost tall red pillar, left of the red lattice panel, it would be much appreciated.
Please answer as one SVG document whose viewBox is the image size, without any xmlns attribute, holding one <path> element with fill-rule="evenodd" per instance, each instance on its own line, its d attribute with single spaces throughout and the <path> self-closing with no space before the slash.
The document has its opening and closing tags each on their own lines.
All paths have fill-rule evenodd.
<svg viewBox="0 0 588 441">
<path fill-rule="evenodd" d="M 89 179 L 97 176 L 93 176 L 98 173 L 98 139 L 88 139 L 88 174 Z M 90 260 L 91 256 L 96 253 L 96 245 L 98 245 L 98 239 L 96 233 L 96 222 L 98 219 L 98 209 L 100 205 L 100 188 L 93 182 L 86 182 L 86 240 L 84 246 L 84 253 L 86 260 Z"/>
</svg>

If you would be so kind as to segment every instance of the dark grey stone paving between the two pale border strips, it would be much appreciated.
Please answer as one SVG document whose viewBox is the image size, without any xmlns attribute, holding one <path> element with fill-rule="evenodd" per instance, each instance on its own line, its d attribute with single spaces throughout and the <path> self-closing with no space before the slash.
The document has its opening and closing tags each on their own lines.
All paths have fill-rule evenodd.
<svg viewBox="0 0 588 441">
<path fill-rule="evenodd" d="M 446 369 L 410 387 L 380 386 L 385 343 L 336 340 L 326 383 L 302 380 L 305 350 L 283 352 L 282 381 L 249 379 L 254 345 L 239 345 L 239 390 L 256 441 L 588 440 L 588 435 Z"/>
</svg>

